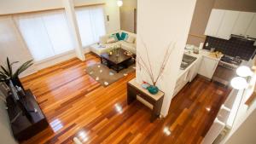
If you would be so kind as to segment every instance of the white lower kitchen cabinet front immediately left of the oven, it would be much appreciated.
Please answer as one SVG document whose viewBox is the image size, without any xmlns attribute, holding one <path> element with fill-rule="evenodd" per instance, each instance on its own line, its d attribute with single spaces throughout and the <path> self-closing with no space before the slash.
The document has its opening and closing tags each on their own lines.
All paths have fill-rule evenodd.
<svg viewBox="0 0 256 144">
<path fill-rule="evenodd" d="M 198 73 L 206 78 L 212 79 L 212 75 L 215 72 L 217 66 L 218 60 L 203 56 Z"/>
</svg>

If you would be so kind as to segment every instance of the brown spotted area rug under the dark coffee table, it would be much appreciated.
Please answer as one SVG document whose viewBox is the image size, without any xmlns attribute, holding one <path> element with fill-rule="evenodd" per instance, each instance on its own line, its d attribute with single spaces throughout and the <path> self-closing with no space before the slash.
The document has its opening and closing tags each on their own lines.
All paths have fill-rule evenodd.
<svg viewBox="0 0 256 144">
<path fill-rule="evenodd" d="M 94 78 L 98 83 L 102 84 L 102 86 L 107 87 L 120 78 L 127 76 L 128 73 L 134 72 L 135 69 L 135 65 L 131 65 L 117 73 L 113 71 L 113 69 L 109 69 L 108 66 L 95 64 L 93 66 L 88 66 L 85 69 L 85 72 L 87 72 L 90 77 Z"/>
</svg>

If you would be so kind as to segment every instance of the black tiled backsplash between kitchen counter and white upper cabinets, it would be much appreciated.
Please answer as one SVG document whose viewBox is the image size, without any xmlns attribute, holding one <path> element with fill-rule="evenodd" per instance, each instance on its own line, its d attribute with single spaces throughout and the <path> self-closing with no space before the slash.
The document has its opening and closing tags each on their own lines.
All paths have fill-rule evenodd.
<svg viewBox="0 0 256 144">
<path fill-rule="evenodd" d="M 208 46 L 206 46 L 208 43 Z M 231 37 L 225 40 L 217 37 L 207 36 L 203 49 L 210 50 L 215 48 L 216 51 L 222 52 L 224 55 L 240 56 L 243 60 L 249 60 L 255 55 L 256 46 L 253 41 L 243 40 L 237 37 Z"/>
</svg>

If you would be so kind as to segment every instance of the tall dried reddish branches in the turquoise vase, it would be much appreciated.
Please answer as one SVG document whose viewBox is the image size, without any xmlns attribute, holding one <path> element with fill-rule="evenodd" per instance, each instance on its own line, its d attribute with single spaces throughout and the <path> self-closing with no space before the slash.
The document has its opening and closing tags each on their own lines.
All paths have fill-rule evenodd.
<svg viewBox="0 0 256 144">
<path fill-rule="evenodd" d="M 175 43 L 173 43 L 173 44 L 169 43 L 168 44 L 167 49 L 166 49 L 166 54 L 164 56 L 164 59 L 163 59 L 163 61 L 161 63 L 161 66 L 160 66 L 160 70 L 159 70 L 156 77 L 154 76 L 154 73 L 152 71 L 152 65 L 151 65 L 151 62 L 149 60 L 148 47 L 147 47 L 146 43 L 144 43 L 143 39 L 142 39 L 142 43 L 143 43 L 144 49 L 146 50 L 148 64 L 147 64 L 146 60 L 143 60 L 143 58 L 141 57 L 141 55 L 139 53 L 137 53 L 137 64 L 138 64 L 140 69 L 141 68 L 145 69 L 145 71 L 147 72 L 147 74 L 150 78 L 151 83 L 155 86 L 155 84 L 158 82 L 160 76 L 163 74 L 163 72 L 166 68 L 166 64 L 167 64 L 167 62 L 170 58 L 170 55 L 172 54 L 172 50 L 175 48 Z"/>
</svg>

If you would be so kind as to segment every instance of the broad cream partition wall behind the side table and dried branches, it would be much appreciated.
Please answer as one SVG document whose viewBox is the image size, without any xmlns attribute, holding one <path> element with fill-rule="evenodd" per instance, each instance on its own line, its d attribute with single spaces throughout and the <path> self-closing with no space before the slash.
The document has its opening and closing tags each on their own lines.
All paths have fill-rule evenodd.
<svg viewBox="0 0 256 144">
<path fill-rule="evenodd" d="M 195 0 L 139 0 L 137 2 L 137 54 L 147 60 L 141 39 L 143 37 L 143 41 L 148 46 L 154 75 L 160 69 L 167 45 L 170 42 L 176 43 L 166 71 L 157 84 L 166 93 L 161 111 L 166 116 L 172 101 L 183 48 L 189 34 Z M 142 80 L 148 81 L 148 77 L 144 71 L 140 72 L 137 66 L 137 81 Z"/>
</svg>

